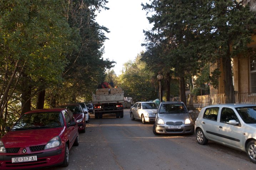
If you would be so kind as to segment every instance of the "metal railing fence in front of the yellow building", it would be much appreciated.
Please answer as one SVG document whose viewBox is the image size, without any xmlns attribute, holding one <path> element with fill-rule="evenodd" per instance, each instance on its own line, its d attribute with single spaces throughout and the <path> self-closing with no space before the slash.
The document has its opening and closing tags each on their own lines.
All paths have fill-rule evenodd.
<svg viewBox="0 0 256 170">
<path fill-rule="evenodd" d="M 171 98 L 171 101 L 179 101 L 179 97 Z M 225 103 L 225 94 L 191 96 L 187 98 L 187 105 L 195 108 L 203 108 L 209 105 L 217 105 Z M 256 104 L 255 93 L 237 93 L 235 94 L 235 103 Z"/>
</svg>

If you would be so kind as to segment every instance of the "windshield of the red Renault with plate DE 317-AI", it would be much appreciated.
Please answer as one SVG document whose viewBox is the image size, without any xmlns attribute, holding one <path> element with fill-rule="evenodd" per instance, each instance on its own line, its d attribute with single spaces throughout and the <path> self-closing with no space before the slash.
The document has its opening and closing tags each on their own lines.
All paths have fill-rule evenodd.
<svg viewBox="0 0 256 170">
<path fill-rule="evenodd" d="M 61 112 L 27 113 L 20 117 L 12 130 L 55 128 L 64 126 Z"/>
</svg>

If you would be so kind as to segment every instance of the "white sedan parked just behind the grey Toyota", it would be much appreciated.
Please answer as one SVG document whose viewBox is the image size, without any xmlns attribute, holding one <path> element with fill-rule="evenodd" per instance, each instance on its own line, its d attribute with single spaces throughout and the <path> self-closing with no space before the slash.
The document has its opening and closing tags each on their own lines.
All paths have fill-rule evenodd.
<svg viewBox="0 0 256 170">
<path fill-rule="evenodd" d="M 143 124 L 154 122 L 156 111 L 157 105 L 154 102 L 136 102 L 130 108 L 130 117 L 131 120 L 135 120 L 135 118 L 140 119 Z"/>
</svg>

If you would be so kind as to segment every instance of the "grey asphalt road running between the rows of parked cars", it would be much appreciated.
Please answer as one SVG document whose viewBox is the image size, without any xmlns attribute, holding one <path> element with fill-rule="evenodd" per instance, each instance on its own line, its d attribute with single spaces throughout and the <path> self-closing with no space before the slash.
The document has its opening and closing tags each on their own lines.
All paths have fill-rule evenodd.
<svg viewBox="0 0 256 170">
<path fill-rule="evenodd" d="M 209 141 L 199 145 L 195 135 L 160 135 L 152 123 L 115 115 L 95 119 L 91 116 L 80 144 L 70 150 L 66 168 L 47 170 L 251 170 L 246 153 Z"/>
</svg>

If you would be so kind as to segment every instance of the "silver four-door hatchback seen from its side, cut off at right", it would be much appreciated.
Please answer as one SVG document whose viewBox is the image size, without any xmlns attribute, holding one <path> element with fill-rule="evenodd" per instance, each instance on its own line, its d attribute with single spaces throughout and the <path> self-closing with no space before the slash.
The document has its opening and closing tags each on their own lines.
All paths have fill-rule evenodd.
<svg viewBox="0 0 256 170">
<path fill-rule="evenodd" d="M 196 140 L 242 150 L 256 163 L 256 105 L 223 104 L 202 108 L 195 124 Z"/>
</svg>

